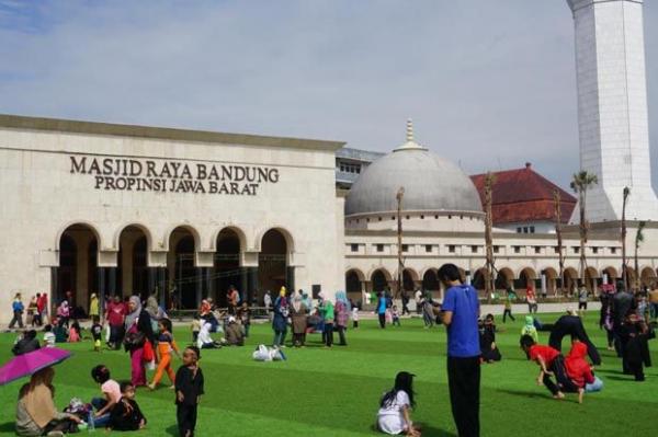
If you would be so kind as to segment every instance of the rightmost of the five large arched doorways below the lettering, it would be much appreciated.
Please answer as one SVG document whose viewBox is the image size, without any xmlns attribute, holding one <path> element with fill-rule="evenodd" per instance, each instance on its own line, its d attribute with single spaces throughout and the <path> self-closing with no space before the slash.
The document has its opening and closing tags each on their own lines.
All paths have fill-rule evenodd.
<svg viewBox="0 0 658 437">
<path fill-rule="evenodd" d="M 261 290 L 270 290 L 277 296 L 286 286 L 288 245 L 285 235 L 277 229 L 270 229 L 261 240 L 258 256 L 258 278 Z M 291 288 L 288 285 L 287 288 Z M 292 291 L 292 290 L 290 290 Z"/>
</svg>

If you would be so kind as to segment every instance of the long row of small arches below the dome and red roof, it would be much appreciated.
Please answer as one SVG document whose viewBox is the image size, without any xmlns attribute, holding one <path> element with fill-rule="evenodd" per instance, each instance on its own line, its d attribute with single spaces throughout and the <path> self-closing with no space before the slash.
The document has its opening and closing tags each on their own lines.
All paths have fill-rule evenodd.
<svg viewBox="0 0 658 437">
<path fill-rule="evenodd" d="M 460 271 L 464 280 L 469 280 L 478 290 L 485 289 L 486 271 L 484 267 L 475 271 L 473 274 L 463 268 L 460 268 Z M 566 267 L 561 285 L 567 292 L 570 292 L 582 281 L 588 289 L 593 290 L 603 283 L 614 284 L 615 280 L 621 278 L 621 268 L 617 269 L 616 267 L 609 266 L 599 272 L 590 266 L 587 268 L 586 278 L 582 281 L 576 268 Z M 626 271 L 628 280 L 635 283 L 637 279 L 635 269 L 626 267 Z M 420 288 L 429 291 L 439 291 L 441 287 L 436 273 L 438 268 L 426 268 L 421 273 L 418 273 L 413 268 L 405 268 L 402 271 L 402 289 L 412 291 Z M 393 285 L 396 280 L 397 272 L 392 274 L 385 267 L 375 268 L 367 276 L 361 269 L 352 267 L 345 272 L 345 290 L 348 292 L 382 291 L 387 287 L 394 288 Z M 649 266 L 640 268 L 639 281 L 643 287 L 657 285 L 658 269 Z M 503 267 L 498 269 L 496 274 L 497 289 L 511 287 L 524 290 L 529 286 L 533 286 L 536 289 L 545 289 L 547 295 L 556 295 L 560 287 L 559 274 L 553 267 L 547 267 L 540 272 L 533 267 L 524 267 L 517 273 L 509 267 Z"/>
</svg>

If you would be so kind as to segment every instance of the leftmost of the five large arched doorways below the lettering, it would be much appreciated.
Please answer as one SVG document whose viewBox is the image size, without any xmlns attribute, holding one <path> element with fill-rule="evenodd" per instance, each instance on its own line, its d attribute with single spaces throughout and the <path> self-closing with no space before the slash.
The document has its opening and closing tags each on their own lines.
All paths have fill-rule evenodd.
<svg viewBox="0 0 658 437">
<path fill-rule="evenodd" d="M 71 225 L 59 238 L 59 267 L 54 284 L 54 304 L 69 299 L 72 308 L 89 309 L 89 297 L 98 292 L 98 233 L 88 225 Z"/>
</svg>

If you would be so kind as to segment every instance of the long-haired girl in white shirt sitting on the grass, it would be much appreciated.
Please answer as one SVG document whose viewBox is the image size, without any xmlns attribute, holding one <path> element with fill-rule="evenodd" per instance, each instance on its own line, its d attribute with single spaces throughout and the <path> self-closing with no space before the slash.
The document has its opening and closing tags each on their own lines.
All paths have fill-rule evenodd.
<svg viewBox="0 0 658 437">
<path fill-rule="evenodd" d="M 409 410 L 415 405 L 413 375 L 400 371 L 395 377 L 393 390 L 385 393 L 379 401 L 377 429 L 388 435 L 420 437 L 420 428 L 413 426 L 409 415 Z"/>
</svg>

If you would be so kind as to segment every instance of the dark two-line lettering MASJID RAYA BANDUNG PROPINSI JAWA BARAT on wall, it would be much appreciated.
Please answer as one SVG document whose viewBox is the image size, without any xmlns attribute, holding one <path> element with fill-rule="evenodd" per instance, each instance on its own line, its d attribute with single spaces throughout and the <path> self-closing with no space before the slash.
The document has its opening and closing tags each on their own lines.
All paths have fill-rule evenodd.
<svg viewBox="0 0 658 437">
<path fill-rule="evenodd" d="M 261 184 L 276 184 L 279 169 L 69 156 L 70 173 L 93 176 L 95 189 L 256 196 Z"/>
</svg>

